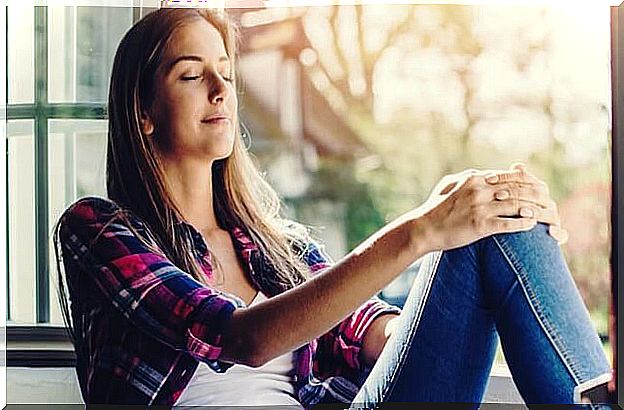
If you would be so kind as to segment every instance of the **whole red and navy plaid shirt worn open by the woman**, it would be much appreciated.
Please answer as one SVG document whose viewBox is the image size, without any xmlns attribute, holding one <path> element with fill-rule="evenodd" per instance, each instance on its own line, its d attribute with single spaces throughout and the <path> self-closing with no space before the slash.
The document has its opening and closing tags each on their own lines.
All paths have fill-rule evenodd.
<svg viewBox="0 0 624 410">
<path fill-rule="evenodd" d="M 80 389 L 87 404 L 171 406 L 199 361 L 216 372 L 233 365 L 219 360 L 222 332 L 234 309 L 246 305 L 177 268 L 153 240 L 145 239 L 152 236 L 132 213 L 126 213 L 127 222 L 110 222 L 119 210 L 108 199 L 88 197 L 60 219 Z M 201 234 L 190 224 L 182 225 L 209 274 Z M 266 269 L 253 262 L 258 248 L 242 229 L 231 235 L 245 271 L 253 276 L 254 269 Z M 313 274 L 331 263 L 314 244 L 304 260 Z M 297 349 L 295 391 L 304 406 L 352 401 L 371 370 L 358 357 L 362 339 L 384 313 L 400 309 L 373 297 Z"/>
</svg>

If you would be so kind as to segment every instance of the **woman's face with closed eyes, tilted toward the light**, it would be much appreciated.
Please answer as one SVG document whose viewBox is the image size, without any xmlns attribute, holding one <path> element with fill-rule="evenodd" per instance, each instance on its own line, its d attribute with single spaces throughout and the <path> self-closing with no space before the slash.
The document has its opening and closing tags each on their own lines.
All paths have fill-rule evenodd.
<svg viewBox="0 0 624 410">
<path fill-rule="evenodd" d="M 230 155 L 237 120 L 233 73 L 212 24 L 202 19 L 173 33 L 156 72 L 154 102 L 142 120 L 162 154 L 209 161 Z"/>
</svg>

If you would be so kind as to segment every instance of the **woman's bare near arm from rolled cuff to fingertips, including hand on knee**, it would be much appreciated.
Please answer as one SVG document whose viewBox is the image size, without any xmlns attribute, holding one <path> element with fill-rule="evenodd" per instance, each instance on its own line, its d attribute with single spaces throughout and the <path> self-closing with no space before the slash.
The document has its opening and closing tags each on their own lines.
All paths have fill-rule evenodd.
<svg viewBox="0 0 624 410">
<path fill-rule="evenodd" d="M 220 359 L 261 366 L 330 330 L 425 253 L 532 229 L 541 218 L 543 193 L 527 189 L 535 183 L 523 171 L 498 182 L 473 174 L 448 192 L 434 192 L 422 209 L 385 226 L 331 268 L 258 305 L 237 309 L 224 328 Z M 505 199 L 497 197 L 501 190 L 508 193 Z"/>
</svg>

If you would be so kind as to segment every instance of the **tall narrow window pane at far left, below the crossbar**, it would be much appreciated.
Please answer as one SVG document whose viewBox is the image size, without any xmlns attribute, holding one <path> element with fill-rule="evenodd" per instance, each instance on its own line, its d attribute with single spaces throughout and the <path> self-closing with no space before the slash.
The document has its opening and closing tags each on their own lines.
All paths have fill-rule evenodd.
<svg viewBox="0 0 624 410">
<path fill-rule="evenodd" d="M 8 121 L 9 309 L 35 322 L 35 161 L 32 120 Z"/>
</svg>

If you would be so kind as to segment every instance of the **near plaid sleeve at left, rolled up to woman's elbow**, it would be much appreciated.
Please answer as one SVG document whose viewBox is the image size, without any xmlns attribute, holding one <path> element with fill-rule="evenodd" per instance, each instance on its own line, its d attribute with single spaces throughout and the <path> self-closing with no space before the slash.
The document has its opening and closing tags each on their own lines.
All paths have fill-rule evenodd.
<svg viewBox="0 0 624 410">
<path fill-rule="evenodd" d="M 61 217 L 59 241 L 70 292 L 72 277 L 88 276 L 137 328 L 224 372 L 233 364 L 217 360 L 222 333 L 244 302 L 180 270 L 153 241 L 137 236 L 137 231 L 146 233 L 138 218 L 116 218 L 119 211 L 110 200 L 89 197 Z"/>
</svg>

